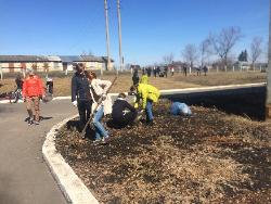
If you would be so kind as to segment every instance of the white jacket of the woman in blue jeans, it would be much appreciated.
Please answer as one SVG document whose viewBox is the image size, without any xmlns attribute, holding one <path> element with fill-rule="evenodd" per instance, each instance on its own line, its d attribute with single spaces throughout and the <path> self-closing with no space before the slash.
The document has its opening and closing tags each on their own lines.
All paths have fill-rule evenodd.
<svg viewBox="0 0 271 204">
<path fill-rule="evenodd" d="M 108 90 L 111 85 L 112 85 L 112 82 L 109 80 L 101 80 L 101 79 L 92 79 L 91 80 L 90 93 L 91 93 L 91 97 L 92 97 L 92 100 L 93 100 L 92 112 L 98 105 L 98 100 L 94 99 L 93 95 L 98 94 L 99 97 L 102 97 L 103 94 L 106 93 L 106 91 Z M 93 93 L 92 90 L 95 93 Z M 112 113 L 112 99 L 111 99 L 109 95 L 106 95 L 106 99 L 103 100 L 102 104 L 100 104 L 96 110 L 99 110 L 101 105 L 104 106 L 104 115 L 107 115 L 107 114 Z"/>
</svg>

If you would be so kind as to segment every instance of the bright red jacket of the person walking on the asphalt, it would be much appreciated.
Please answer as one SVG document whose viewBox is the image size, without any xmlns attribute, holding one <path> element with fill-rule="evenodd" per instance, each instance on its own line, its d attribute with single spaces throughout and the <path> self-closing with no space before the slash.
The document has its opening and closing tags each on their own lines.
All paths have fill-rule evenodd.
<svg viewBox="0 0 271 204">
<path fill-rule="evenodd" d="M 36 75 L 28 76 L 23 84 L 23 97 L 41 97 L 43 94 L 42 80 Z"/>
</svg>

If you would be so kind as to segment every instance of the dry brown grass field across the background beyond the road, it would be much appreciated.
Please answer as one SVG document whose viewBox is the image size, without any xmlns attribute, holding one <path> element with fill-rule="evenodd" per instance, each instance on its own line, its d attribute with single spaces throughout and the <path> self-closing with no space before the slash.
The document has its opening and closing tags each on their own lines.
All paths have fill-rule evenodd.
<svg viewBox="0 0 271 204">
<path fill-rule="evenodd" d="M 104 75 L 102 79 L 113 79 L 113 75 Z M 54 80 L 54 95 L 64 97 L 70 95 L 70 80 L 72 77 L 53 77 Z M 182 74 L 176 73 L 173 77 L 168 78 L 153 78 L 151 77 L 150 84 L 156 86 L 158 89 L 180 89 L 193 88 L 202 86 L 219 86 L 219 85 L 240 85 L 264 82 L 267 80 L 266 73 L 253 72 L 235 72 L 235 73 L 209 73 L 208 76 L 194 76 L 190 75 L 183 77 Z M 14 78 L 7 78 L 0 81 L 0 93 L 9 92 L 15 89 Z M 112 92 L 128 91 L 131 86 L 131 75 L 120 74 Z"/>
</svg>

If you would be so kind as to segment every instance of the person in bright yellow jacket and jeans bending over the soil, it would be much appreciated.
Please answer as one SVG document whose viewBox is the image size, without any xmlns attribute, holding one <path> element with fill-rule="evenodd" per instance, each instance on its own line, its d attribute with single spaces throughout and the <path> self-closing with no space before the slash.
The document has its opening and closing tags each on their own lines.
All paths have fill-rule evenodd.
<svg viewBox="0 0 271 204">
<path fill-rule="evenodd" d="M 139 84 L 138 86 L 138 101 L 136 107 L 140 100 L 142 100 L 142 110 L 146 113 L 146 124 L 153 125 L 153 103 L 156 103 L 159 99 L 160 92 L 157 88 L 147 84 Z"/>
</svg>

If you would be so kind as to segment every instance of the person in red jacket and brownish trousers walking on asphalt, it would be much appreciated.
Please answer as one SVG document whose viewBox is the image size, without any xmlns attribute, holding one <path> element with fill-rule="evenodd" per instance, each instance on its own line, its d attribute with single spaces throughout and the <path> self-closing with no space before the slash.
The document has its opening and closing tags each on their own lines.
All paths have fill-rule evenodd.
<svg viewBox="0 0 271 204">
<path fill-rule="evenodd" d="M 44 95 L 42 80 L 30 69 L 23 85 L 23 98 L 26 101 L 26 110 L 29 115 L 28 125 L 39 125 L 39 100 Z M 33 116 L 33 106 L 35 110 L 35 118 Z"/>
</svg>

